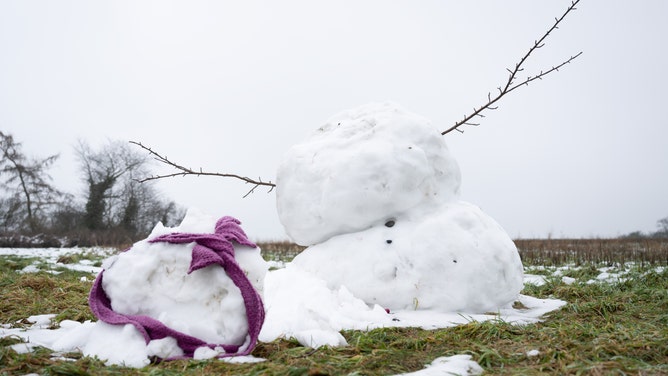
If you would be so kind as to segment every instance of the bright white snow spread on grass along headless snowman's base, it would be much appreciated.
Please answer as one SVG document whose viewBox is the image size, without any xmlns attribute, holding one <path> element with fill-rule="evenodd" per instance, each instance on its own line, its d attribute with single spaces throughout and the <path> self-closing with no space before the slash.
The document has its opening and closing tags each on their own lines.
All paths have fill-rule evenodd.
<svg viewBox="0 0 668 376">
<path fill-rule="evenodd" d="M 344 329 L 370 330 L 383 327 L 447 328 L 472 321 L 502 320 L 516 325 L 536 323 L 548 312 L 566 304 L 557 299 L 519 295 L 523 308 L 508 305 L 494 313 L 439 311 L 413 307 L 388 313 L 379 305 L 368 305 L 341 286 L 332 290 L 322 279 L 294 265 L 269 272 L 265 279 L 267 319 L 260 340 L 295 338 L 308 347 L 346 345 Z"/>
</svg>

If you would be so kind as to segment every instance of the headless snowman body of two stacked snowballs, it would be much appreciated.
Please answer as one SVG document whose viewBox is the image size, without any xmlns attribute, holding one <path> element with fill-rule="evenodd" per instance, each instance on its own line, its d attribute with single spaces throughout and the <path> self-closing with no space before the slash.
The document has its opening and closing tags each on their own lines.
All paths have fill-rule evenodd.
<svg viewBox="0 0 668 376">
<path fill-rule="evenodd" d="M 487 312 L 523 287 L 517 248 L 459 199 L 440 132 L 392 103 L 339 113 L 292 147 L 277 172 L 291 263 L 388 310 Z"/>
</svg>

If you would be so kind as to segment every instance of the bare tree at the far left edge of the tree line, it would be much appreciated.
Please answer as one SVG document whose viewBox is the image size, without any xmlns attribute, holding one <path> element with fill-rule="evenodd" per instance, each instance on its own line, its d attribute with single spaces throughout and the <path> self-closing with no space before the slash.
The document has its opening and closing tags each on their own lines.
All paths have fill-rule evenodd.
<svg viewBox="0 0 668 376">
<path fill-rule="evenodd" d="M 46 172 L 58 159 L 52 155 L 43 159 L 26 157 L 21 152 L 21 143 L 14 141 L 10 134 L 0 132 L 0 175 L 5 176 L 1 186 L 12 192 L 1 205 L 5 214 L 5 227 L 21 230 L 25 225 L 31 232 L 40 230 L 46 217 L 45 211 L 57 202 L 61 193 L 51 184 L 51 176 Z"/>
</svg>

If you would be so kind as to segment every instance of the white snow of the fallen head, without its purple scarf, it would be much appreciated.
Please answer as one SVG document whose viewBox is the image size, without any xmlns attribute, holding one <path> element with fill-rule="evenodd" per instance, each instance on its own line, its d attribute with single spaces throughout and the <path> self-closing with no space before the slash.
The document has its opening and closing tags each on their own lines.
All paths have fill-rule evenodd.
<svg viewBox="0 0 668 376">
<path fill-rule="evenodd" d="M 172 232 L 213 233 L 216 219 L 189 210 L 180 226 L 156 226 L 148 239 Z M 114 311 L 147 315 L 208 343 L 244 343 L 248 332 L 241 291 L 216 265 L 187 274 L 193 244 L 143 240 L 118 255 L 104 272 Z M 259 248 L 234 243 L 235 258 L 258 291 L 267 263 Z"/>
</svg>

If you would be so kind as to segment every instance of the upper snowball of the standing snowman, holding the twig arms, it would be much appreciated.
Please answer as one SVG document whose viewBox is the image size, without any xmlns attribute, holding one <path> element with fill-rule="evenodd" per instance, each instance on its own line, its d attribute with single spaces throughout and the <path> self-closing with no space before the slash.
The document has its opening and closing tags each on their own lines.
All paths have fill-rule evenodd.
<svg viewBox="0 0 668 376">
<path fill-rule="evenodd" d="M 311 245 L 457 197 L 459 167 L 440 132 L 392 103 L 344 111 L 292 147 L 278 168 L 278 215 Z"/>
</svg>

